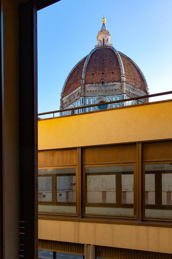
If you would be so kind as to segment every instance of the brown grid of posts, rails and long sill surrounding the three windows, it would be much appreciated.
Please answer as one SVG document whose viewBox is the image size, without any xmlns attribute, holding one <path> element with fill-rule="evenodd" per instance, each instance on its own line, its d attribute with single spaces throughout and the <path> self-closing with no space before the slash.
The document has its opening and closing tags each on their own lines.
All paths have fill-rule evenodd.
<svg viewBox="0 0 172 259">
<path fill-rule="evenodd" d="M 168 140 L 167 140 L 168 141 Z M 155 141 L 157 142 L 157 141 Z M 147 142 L 146 142 L 147 143 Z M 81 147 L 77 147 L 77 179 L 78 179 L 78 195 L 76 197 L 76 204 L 77 206 L 77 216 L 68 216 L 66 214 L 60 215 L 58 213 L 50 214 L 47 212 L 46 214 L 40 214 L 38 215 L 39 219 L 51 219 L 51 220 L 69 220 L 69 221 L 79 221 L 79 222 L 97 222 L 97 223 L 109 223 L 109 224 L 127 224 L 127 225 L 140 225 L 140 226 L 163 226 L 163 227 L 171 227 L 171 220 L 166 220 L 165 218 L 157 219 L 157 218 L 150 218 L 145 219 L 143 215 L 143 204 L 144 204 L 144 189 L 142 188 L 142 171 L 143 171 L 143 164 L 148 163 L 169 163 L 169 161 L 172 161 L 172 159 L 162 159 L 162 160 L 143 160 L 142 161 L 142 144 L 144 142 L 132 142 L 132 143 L 122 143 L 121 145 L 126 144 L 136 144 L 136 160 L 133 161 L 120 161 L 120 162 L 103 162 L 99 163 L 99 161 L 96 161 L 95 163 L 85 163 L 85 160 L 83 160 L 83 151 Z M 114 144 L 113 144 L 114 145 Z M 119 144 L 118 144 L 119 145 Z M 107 146 L 107 145 L 104 145 Z M 97 146 L 98 147 L 98 146 Z M 84 149 L 84 148 L 83 148 Z M 135 211 L 134 211 L 134 218 L 128 218 L 124 216 L 105 216 L 105 215 L 93 215 L 86 216 L 84 214 L 85 208 L 85 197 L 83 197 L 83 167 L 93 167 L 93 166 L 111 166 L 111 165 L 132 165 L 134 164 L 135 172 L 136 172 L 136 189 L 134 194 L 134 202 L 135 202 Z M 57 166 L 59 167 L 59 166 Z M 64 166 L 67 167 L 67 166 Z M 69 166 L 68 166 L 69 167 Z M 71 166 L 73 167 L 73 165 Z M 39 169 L 44 168 L 56 168 L 52 166 L 48 167 L 39 167 Z M 135 188 L 135 187 L 134 187 Z M 85 190 L 84 190 L 85 191 Z M 84 204 L 83 204 L 84 203 Z"/>
</svg>

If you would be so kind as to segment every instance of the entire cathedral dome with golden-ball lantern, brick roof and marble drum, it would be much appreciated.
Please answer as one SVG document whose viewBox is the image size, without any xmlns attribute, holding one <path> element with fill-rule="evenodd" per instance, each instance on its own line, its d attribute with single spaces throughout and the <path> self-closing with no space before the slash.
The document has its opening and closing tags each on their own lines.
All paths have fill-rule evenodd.
<svg viewBox="0 0 172 259">
<path fill-rule="evenodd" d="M 97 45 L 80 60 L 64 82 L 60 96 L 60 109 L 99 104 L 95 107 L 80 108 L 79 112 L 89 112 L 136 104 L 137 101 L 110 102 L 144 96 L 148 93 L 146 79 L 136 63 L 110 43 L 110 33 L 103 25 L 97 35 Z M 147 102 L 141 99 L 139 103 Z M 78 110 L 63 112 L 61 115 L 77 113 Z"/>
</svg>

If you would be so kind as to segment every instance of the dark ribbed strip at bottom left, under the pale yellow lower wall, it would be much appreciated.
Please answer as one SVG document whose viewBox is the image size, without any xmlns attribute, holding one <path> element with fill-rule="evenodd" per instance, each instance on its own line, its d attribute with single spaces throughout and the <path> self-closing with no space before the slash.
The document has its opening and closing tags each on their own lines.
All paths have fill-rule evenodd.
<svg viewBox="0 0 172 259">
<path fill-rule="evenodd" d="M 38 249 L 84 255 L 84 244 L 38 239 Z"/>
</svg>

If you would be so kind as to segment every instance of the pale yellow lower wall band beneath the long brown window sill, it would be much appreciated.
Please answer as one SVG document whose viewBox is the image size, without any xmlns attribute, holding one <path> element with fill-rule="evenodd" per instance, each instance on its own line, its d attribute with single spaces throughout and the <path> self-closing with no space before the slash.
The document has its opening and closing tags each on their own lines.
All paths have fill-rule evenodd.
<svg viewBox="0 0 172 259">
<path fill-rule="evenodd" d="M 39 239 L 172 254 L 172 228 L 38 220 Z"/>
</svg>

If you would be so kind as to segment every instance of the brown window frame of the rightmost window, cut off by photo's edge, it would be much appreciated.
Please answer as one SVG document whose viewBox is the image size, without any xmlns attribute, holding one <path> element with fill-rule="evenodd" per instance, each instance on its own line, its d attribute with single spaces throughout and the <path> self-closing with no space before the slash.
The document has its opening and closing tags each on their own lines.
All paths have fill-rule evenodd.
<svg viewBox="0 0 172 259">
<path fill-rule="evenodd" d="M 172 162 L 172 161 L 171 161 Z M 172 205 L 162 205 L 162 174 L 171 173 L 171 171 L 146 171 L 147 174 L 155 174 L 155 204 L 145 204 L 145 165 L 153 164 L 169 164 L 170 161 L 147 161 L 142 162 L 142 220 L 143 221 L 161 221 L 171 222 L 171 218 L 155 218 L 146 217 L 145 209 L 160 209 L 160 210 L 172 210 Z M 158 191 L 159 190 L 159 191 Z M 156 210 L 155 209 L 155 210 Z"/>
</svg>

